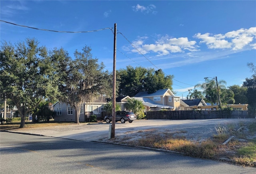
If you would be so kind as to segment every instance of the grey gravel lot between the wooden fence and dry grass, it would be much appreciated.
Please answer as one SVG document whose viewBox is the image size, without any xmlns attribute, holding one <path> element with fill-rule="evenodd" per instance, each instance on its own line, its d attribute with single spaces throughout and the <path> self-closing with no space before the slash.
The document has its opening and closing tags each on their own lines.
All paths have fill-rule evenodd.
<svg viewBox="0 0 256 174">
<path fill-rule="evenodd" d="M 148 120 L 150 123 L 154 120 Z M 145 121 L 148 122 L 148 121 Z M 156 122 L 158 122 L 157 120 Z M 162 120 L 159 121 L 162 123 Z M 212 138 L 214 134 L 218 134 L 215 128 L 219 127 L 233 127 L 238 130 L 243 125 L 256 123 L 255 119 L 208 119 L 208 120 L 173 120 L 165 121 L 166 124 L 161 125 L 148 124 L 148 126 L 142 126 L 136 129 L 120 129 L 116 131 L 115 139 L 103 138 L 102 141 L 112 141 L 112 142 L 129 142 L 131 140 L 136 140 L 139 138 L 144 138 L 148 134 L 166 134 L 170 133 L 173 136 L 183 136 L 186 139 L 194 142 L 202 142 L 208 138 Z M 256 135 L 248 135 L 247 129 L 241 129 L 244 133 L 244 137 L 248 136 L 250 138 L 256 138 Z M 130 137 L 130 138 L 129 138 Z"/>
</svg>

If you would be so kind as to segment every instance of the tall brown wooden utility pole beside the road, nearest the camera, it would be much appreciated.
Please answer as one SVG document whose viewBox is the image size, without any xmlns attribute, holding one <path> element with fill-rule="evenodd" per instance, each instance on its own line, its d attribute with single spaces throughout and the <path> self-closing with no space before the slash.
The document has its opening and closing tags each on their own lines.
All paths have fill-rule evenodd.
<svg viewBox="0 0 256 174">
<path fill-rule="evenodd" d="M 115 138 L 116 123 L 116 24 L 114 24 L 114 59 L 113 59 L 113 93 L 112 93 L 112 128 L 111 138 Z"/>
</svg>

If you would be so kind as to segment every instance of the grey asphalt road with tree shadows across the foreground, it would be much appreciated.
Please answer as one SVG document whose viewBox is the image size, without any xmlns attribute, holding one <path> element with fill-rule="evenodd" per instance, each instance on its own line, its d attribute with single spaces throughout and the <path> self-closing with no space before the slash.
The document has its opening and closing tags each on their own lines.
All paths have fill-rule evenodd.
<svg viewBox="0 0 256 174">
<path fill-rule="evenodd" d="M 1 174 L 255 174 L 240 167 L 112 144 L 0 132 Z"/>
</svg>

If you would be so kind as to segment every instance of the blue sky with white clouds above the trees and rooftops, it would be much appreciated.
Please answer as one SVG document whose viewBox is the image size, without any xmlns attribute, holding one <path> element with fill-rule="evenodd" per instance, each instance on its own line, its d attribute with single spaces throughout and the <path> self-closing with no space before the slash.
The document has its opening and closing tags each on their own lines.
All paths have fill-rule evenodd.
<svg viewBox="0 0 256 174">
<path fill-rule="evenodd" d="M 242 85 L 256 65 L 256 1 L 0 1 L 1 20 L 55 31 L 94 31 L 117 24 L 116 69 L 152 67 L 174 75 L 173 91 L 186 97 L 204 77 Z M 1 42 L 36 38 L 71 57 L 88 45 L 113 70 L 110 29 L 87 33 L 34 30 L 0 22 Z M 129 43 L 132 43 L 134 47 Z M 138 52 L 138 50 L 140 53 Z M 142 54 L 143 55 L 142 55 Z"/>
</svg>

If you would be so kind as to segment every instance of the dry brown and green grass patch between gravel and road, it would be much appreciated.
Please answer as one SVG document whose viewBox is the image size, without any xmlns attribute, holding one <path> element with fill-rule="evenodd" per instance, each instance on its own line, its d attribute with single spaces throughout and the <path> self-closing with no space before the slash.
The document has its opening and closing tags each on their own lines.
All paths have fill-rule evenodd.
<svg viewBox="0 0 256 174">
<path fill-rule="evenodd" d="M 243 129 L 238 131 L 242 126 Z M 215 134 L 201 141 L 188 139 L 191 135 L 186 134 L 187 130 L 140 130 L 136 132 L 140 138 L 126 144 L 172 150 L 182 152 L 186 156 L 220 160 L 242 166 L 256 166 L 256 138 L 248 139 L 248 135 L 255 136 L 256 123 L 228 124 L 216 127 L 215 130 Z M 230 136 L 234 138 L 224 145 Z"/>
</svg>

